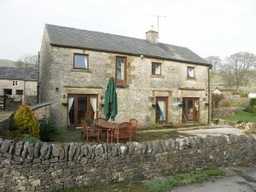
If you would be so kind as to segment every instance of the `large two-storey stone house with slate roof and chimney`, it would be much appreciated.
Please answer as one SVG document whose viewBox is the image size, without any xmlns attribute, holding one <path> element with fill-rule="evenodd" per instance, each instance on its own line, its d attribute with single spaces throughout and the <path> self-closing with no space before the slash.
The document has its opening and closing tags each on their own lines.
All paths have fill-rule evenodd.
<svg viewBox="0 0 256 192">
<path fill-rule="evenodd" d="M 115 79 L 116 122 L 139 126 L 208 123 L 211 65 L 190 49 L 64 26 L 46 25 L 39 64 L 39 101 L 51 102 L 51 116 L 64 129 L 80 120 L 104 117 L 108 79 Z M 87 116 L 87 117 L 86 117 Z"/>
</svg>

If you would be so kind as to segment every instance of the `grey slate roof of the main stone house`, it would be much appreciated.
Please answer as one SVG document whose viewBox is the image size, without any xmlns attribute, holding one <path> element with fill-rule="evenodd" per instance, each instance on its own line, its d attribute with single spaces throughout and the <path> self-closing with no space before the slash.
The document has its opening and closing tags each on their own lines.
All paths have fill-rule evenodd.
<svg viewBox="0 0 256 192">
<path fill-rule="evenodd" d="M 93 49 L 126 55 L 144 55 L 172 61 L 185 61 L 211 66 L 199 55 L 185 47 L 153 44 L 140 38 L 129 38 L 104 32 L 93 32 L 65 26 L 46 24 L 49 44 L 79 49 Z"/>
</svg>

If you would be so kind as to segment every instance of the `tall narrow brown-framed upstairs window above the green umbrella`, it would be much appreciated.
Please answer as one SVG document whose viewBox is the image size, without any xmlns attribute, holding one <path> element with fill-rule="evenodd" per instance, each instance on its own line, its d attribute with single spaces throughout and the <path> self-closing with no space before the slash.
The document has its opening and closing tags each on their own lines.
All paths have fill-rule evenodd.
<svg viewBox="0 0 256 192">
<path fill-rule="evenodd" d="M 126 57 L 117 56 L 115 66 L 115 81 L 117 84 L 125 84 L 126 80 Z"/>
</svg>

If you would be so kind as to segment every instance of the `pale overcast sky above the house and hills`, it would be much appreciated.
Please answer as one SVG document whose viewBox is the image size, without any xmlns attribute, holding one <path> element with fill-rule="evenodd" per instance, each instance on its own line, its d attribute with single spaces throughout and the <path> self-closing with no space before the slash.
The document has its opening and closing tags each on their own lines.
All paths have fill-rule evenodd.
<svg viewBox="0 0 256 192">
<path fill-rule="evenodd" d="M 0 0 L 0 59 L 37 55 L 46 23 L 144 39 L 154 15 L 162 43 L 256 55 L 256 0 Z"/>
</svg>

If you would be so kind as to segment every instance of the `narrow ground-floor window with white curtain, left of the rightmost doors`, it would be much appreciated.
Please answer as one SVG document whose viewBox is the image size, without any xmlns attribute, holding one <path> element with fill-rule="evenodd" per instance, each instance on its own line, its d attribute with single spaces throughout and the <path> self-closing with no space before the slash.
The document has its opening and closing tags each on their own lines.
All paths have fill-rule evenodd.
<svg viewBox="0 0 256 192">
<path fill-rule="evenodd" d="M 155 122 L 166 123 L 168 122 L 168 98 L 156 97 L 155 108 Z"/>
</svg>

